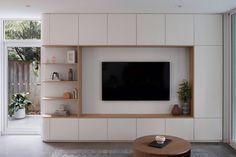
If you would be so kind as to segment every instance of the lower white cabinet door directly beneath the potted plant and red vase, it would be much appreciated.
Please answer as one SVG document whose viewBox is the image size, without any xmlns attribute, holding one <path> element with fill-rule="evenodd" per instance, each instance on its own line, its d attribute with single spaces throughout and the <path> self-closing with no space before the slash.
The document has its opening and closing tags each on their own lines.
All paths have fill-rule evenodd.
<svg viewBox="0 0 236 157">
<path fill-rule="evenodd" d="M 193 119 L 166 119 L 166 135 L 193 140 Z"/>
</svg>

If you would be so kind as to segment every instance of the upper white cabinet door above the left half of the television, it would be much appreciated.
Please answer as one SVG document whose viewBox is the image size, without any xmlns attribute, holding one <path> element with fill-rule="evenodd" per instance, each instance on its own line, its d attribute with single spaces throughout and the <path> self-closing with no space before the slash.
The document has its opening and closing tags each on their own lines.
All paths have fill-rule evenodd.
<svg viewBox="0 0 236 157">
<path fill-rule="evenodd" d="M 136 45 L 136 14 L 108 15 L 108 44 Z"/>
</svg>

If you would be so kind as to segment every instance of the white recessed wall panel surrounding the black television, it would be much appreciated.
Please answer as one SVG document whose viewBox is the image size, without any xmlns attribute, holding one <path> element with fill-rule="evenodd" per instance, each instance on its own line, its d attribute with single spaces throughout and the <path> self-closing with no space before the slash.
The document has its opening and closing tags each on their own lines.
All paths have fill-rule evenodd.
<svg viewBox="0 0 236 157">
<path fill-rule="evenodd" d="M 188 78 L 188 56 L 186 48 L 83 48 L 83 113 L 169 113 L 178 84 Z M 102 101 L 102 61 L 169 61 L 170 101 Z"/>
</svg>

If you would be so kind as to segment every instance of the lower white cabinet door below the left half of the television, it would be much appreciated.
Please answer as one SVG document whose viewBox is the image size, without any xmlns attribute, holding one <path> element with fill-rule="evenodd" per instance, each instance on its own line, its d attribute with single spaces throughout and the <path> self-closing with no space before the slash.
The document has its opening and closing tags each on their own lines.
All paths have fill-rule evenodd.
<svg viewBox="0 0 236 157">
<path fill-rule="evenodd" d="M 134 140 L 136 119 L 108 119 L 109 140 Z"/>
</svg>

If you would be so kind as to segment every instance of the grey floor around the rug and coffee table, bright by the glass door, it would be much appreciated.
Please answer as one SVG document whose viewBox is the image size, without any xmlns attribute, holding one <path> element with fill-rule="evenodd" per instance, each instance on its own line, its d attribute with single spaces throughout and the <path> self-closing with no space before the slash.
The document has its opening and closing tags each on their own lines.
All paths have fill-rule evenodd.
<svg viewBox="0 0 236 157">
<path fill-rule="evenodd" d="M 236 152 L 226 144 L 192 143 L 192 146 L 194 151 L 215 155 L 207 157 L 236 157 Z M 132 143 L 44 143 L 40 136 L 0 136 L 0 157 L 50 157 L 58 149 L 132 149 Z"/>
</svg>

